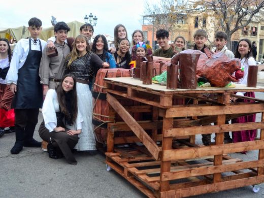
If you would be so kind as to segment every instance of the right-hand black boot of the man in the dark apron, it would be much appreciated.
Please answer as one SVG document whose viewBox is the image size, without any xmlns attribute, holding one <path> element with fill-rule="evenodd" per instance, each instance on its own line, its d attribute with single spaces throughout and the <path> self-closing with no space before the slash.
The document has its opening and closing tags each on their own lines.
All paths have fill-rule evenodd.
<svg viewBox="0 0 264 198">
<path fill-rule="evenodd" d="M 25 147 L 41 147 L 41 142 L 38 142 L 33 138 L 35 127 L 36 127 L 36 124 L 34 124 L 34 123 L 28 123 L 26 125 L 23 146 L 25 146 Z"/>
</svg>

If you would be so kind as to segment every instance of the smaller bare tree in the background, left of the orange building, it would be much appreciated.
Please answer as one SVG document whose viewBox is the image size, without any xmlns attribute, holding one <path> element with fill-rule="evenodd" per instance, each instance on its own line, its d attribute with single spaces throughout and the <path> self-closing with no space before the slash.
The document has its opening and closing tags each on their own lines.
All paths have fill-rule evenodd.
<svg viewBox="0 0 264 198">
<path fill-rule="evenodd" d="M 154 28 L 149 29 L 151 31 L 166 29 L 173 38 L 174 24 L 186 20 L 186 15 L 183 14 L 184 5 L 186 5 L 184 0 L 160 0 L 159 4 L 147 1 L 144 6 L 143 23 L 153 25 Z"/>
</svg>

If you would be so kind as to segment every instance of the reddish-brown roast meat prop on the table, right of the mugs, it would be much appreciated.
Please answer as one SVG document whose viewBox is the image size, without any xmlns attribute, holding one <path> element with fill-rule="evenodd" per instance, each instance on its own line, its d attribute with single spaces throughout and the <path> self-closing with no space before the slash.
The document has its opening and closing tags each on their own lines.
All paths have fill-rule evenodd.
<svg viewBox="0 0 264 198">
<path fill-rule="evenodd" d="M 244 76 L 240 68 L 241 63 L 238 58 L 228 58 L 224 53 L 216 53 L 203 67 L 197 68 L 196 74 L 207 78 L 213 87 L 224 87 L 230 81 L 239 82 L 238 78 Z M 239 75 L 233 76 L 235 72 Z"/>
</svg>

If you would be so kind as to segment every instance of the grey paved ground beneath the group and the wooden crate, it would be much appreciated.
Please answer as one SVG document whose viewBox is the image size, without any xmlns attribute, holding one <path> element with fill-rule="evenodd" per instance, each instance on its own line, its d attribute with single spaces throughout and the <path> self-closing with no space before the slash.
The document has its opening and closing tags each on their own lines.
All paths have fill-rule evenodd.
<svg viewBox="0 0 264 198">
<path fill-rule="evenodd" d="M 264 98 L 264 93 L 256 93 L 256 97 Z M 41 141 L 37 131 L 35 138 Z M 106 171 L 105 156 L 100 152 L 77 152 L 78 164 L 70 165 L 63 158 L 50 159 L 40 148 L 25 147 L 18 155 L 12 155 L 14 141 L 14 133 L 0 138 L 0 197 L 145 197 L 114 171 Z M 196 141 L 201 143 L 201 136 Z M 257 155 L 257 151 L 232 154 L 244 160 L 257 159 Z M 245 186 L 194 197 L 260 198 L 264 197 L 264 185 L 260 185 L 258 193 L 252 192 L 252 186 Z"/>
</svg>

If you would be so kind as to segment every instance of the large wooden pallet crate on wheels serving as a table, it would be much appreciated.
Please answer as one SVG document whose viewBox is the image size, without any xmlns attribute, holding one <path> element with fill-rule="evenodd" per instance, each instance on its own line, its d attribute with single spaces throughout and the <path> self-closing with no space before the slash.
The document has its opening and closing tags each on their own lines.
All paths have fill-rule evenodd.
<svg viewBox="0 0 264 198">
<path fill-rule="evenodd" d="M 112 85 L 123 87 L 122 91 Z M 264 117 L 260 122 L 225 124 L 230 118 L 264 112 L 264 101 L 230 104 L 236 91 L 264 91 L 264 87 L 175 89 L 142 85 L 131 78 L 105 79 L 107 100 L 123 122 L 108 125 L 106 163 L 149 197 L 186 197 L 227 190 L 264 181 Z M 204 98 L 214 94 L 215 100 Z M 149 121 L 135 120 L 118 97 L 145 104 Z M 178 105 L 177 98 L 193 104 Z M 204 104 L 199 103 L 203 101 Z M 216 125 L 208 125 L 216 122 Z M 261 129 L 260 139 L 224 144 L 224 132 Z M 118 139 L 115 133 L 133 131 L 135 136 Z M 195 136 L 216 134 L 213 145 L 195 145 Z M 136 144 L 136 143 L 142 144 Z M 120 146 L 120 144 L 127 144 Z M 232 159 L 228 153 L 259 150 L 257 160 Z"/>
</svg>

